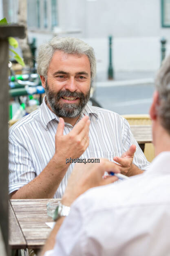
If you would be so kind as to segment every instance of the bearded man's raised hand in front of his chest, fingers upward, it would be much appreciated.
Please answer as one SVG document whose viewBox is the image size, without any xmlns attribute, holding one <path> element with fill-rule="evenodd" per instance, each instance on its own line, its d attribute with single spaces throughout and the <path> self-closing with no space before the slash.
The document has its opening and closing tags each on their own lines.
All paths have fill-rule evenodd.
<svg viewBox="0 0 170 256">
<path fill-rule="evenodd" d="M 83 117 L 67 135 L 63 135 L 64 119 L 60 117 L 57 132 L 55 134 L 55 155 L 66 162 L 66 158 L 77 158 L 84 153 L 89 144 L 88 116 Z M 64 162 L 64 163 L 65 163 Z"/>
</svg>

